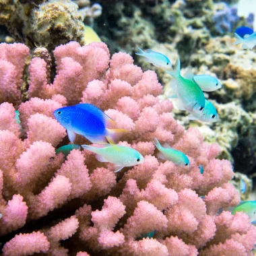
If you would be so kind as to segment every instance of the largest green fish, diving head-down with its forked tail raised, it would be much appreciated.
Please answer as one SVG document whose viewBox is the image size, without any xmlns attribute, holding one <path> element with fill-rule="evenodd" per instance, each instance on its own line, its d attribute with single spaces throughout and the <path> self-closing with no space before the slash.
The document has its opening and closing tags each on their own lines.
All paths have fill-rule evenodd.
<svg viewBox="0 0 256 256">
<path fill-rule="evenodd" d="M 171 83 L 172 88 L 179 100 L 181 100 L 185 110 L 202 115 L 205 106 L 203 91 L 194 81 L 181 76 L 181 62 L 179 58 L 175 63 L 174 70 L 166 70 L 166 72 L 174 78 Z"/>
</svg>

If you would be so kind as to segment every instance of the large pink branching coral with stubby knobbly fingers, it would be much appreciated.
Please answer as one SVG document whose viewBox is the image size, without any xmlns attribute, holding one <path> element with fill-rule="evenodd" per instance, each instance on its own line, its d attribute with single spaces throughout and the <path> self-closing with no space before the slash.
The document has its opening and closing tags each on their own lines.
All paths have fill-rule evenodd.
<svg viewBox="0 0 256 256">
<path fill-rule="evenodd" d="M 27 55 L 23 44 L 0 44 L 0 65 L 10 65 L 15 74 L 0 73 L 0 232 L 17 230 L 3 255 L 253 255 L 256 230 L 248 216 L 216 216 L 240 201 L 228 183 L 230 162 L 216 159 L 220 147 L 203 142 L 197 129 L 185 131 L 177 123 L 172 102 L 158 98 L 162 86 L 154 71 L 143 72 L 127 53 L 109 59 L 102 42 L 70 42 L 54 51 L 53 84 L 44 59 L 32 59 L 29 100 L 21 102 Z M 129 130 L 119 144 L 138 150 L 143 164 L 115 174 L 112 164 L 86 150 L 72 150 L 66 160 L 55 154 L 67 137 L 53 110 L 79 102 L 98 106 Z M 154 137 L 187 154 L 190 169 L 158 160 Z M 77 136 L 75 143 L 88 141 Z M 51 211 L 55 222 L 29 228 Z M 26 234 L 19 232 L 24 225 Z"/>
</svg>

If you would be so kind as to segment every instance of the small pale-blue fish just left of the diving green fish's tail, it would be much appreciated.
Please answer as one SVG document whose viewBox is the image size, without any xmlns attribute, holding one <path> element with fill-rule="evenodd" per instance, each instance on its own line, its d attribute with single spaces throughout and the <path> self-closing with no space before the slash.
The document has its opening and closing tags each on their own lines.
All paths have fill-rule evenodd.
<svg viewBox="0 0 256 256">
<path fill-rule="evenodd" d="M 145 57 L 146 61 L 152 63 L 156 67 L 162 67 L 163 69 L 170 69 L 172 67 L 172 64 L 170 63 L 168 57 L 166 57 L 162 53 L 157 53 L 150 49 L 143 51 L 139 48 L 139 53 L 135 54 Z"/>
</svg>

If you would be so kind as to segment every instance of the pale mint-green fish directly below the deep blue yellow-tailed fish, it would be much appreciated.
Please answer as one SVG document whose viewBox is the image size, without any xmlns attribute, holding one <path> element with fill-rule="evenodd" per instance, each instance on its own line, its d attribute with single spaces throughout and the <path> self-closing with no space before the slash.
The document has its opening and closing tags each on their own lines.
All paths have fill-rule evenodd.
<svg viewBox="0 0 256 256">
<path fill-rule="evenodd" d="M 119 172 L 123 167 L 135 166 L 144 162 L 143 156 L 137 150 L 125 146 L 106 144 L 102 148 L 88 145 L 82 145 L 82 147 L 96 153 L 98 161 L 115 164 L 115 172 Z"/>
</svg>

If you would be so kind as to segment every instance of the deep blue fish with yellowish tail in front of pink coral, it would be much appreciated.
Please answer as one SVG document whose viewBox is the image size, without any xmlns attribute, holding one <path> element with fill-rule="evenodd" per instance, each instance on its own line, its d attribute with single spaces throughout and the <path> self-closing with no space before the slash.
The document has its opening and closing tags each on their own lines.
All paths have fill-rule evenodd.
<svg viewBox="0 0 256 256">
<path fill-rule="evenodd" d="M 88 103 L 65 106 L 53 112 L 57 121 L 67 129 L 69 141 L 75 141 L 75 135 L 83 135 L 92 143 L 117 143 L 125 129 L 108 129 L 115 123 L 100 108 Z"/>
</svg>

